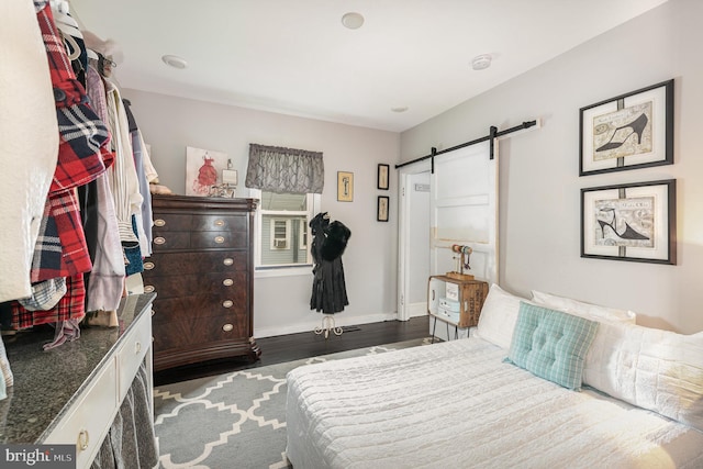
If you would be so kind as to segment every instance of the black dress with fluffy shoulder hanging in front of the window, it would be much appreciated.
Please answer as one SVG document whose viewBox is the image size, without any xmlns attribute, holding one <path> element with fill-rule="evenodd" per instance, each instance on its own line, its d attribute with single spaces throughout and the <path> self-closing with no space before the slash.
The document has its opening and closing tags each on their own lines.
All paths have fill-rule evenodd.
<svg viewBox="0 0 703 469">
<path fill-rule="evenodd" d="M 310 309 L 334 314 L 349 304 L 342 254 L 352 232 L 342 222 L 330 223 L 327 212 L 319 213 L 310 221 L 312 228 L 313 267 L 312 297 Z"/>
</svg>

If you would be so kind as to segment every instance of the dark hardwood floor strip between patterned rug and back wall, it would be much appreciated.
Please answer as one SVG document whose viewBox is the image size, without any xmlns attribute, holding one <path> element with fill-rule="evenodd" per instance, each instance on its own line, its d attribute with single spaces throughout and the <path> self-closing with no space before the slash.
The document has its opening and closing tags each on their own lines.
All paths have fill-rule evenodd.
<svg viewBox="0 0 703 469">
<path fill-rule="evenodd" d="M 254 364 L 241 359 L 231 359 L 163 370 L 154 373 L 154 386 L 158 387 L 246 368 L 265 367 L 319 355 L 427 337 L 429 336 L 428 330 L 428 316 L 422 316 L 413 317 L 410 321 L 386 321 L 345 326 L 342 335 L 330 334 L 326 339 L 324 334 L 317 335 L 312 331 L 257 338 L 256 343 L 261 350 L 261 356 Z"/>
</svg>

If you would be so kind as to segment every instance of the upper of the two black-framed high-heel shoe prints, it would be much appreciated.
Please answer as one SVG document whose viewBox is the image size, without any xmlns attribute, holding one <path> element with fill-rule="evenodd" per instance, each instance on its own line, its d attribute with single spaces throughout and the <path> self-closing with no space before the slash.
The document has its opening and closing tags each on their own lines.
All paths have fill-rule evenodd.
<svg viewBox="0 0 703 469">
<path fill-rule="evenodd" d="M 579 176 L 673 164 L 673 80 L 580 110 Z"/>
</svg>

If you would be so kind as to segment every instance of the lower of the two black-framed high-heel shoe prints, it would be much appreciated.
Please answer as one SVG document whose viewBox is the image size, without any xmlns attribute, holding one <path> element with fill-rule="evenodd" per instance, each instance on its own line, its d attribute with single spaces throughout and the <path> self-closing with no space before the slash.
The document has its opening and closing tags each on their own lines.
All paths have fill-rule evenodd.
<svg viewBox="0 0 703 469">
<path fill-rule="evenodd" d="M 677 181 L 581 189 L 581 257 L 677 264 Z"/>
</svg>

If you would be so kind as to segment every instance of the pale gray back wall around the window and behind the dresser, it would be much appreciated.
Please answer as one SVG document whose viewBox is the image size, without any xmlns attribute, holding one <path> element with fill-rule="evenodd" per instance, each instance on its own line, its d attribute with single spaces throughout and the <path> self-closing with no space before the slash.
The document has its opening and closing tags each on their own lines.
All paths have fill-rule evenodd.
<svg viewBox="0 0 703 469">
<path fill-rule="evenodd" d="M 352 325 L 395 317 L 398 213 L 395 172 L 391 171 L 390 222 L 376 221 L 377 165 L 398 161 L 400 135 L 310 119 L 192 101 L 123 89 L 132 101 L 144 139 L 161 183 L 185 193 L 186 147 L 226 153 L 239 171 L 237 197 L 244 187 L 249 143 L 323 152 L 325 189 L 322 211 L 349 227 L 352 238 L 342 259 L 349 305 L 336 316 Z M 337 202 L 337 171 L 354 172 L 354 201 Z M 312 275 L 257 276 L 254 283 L 256 337 L 312 331 L 321 314 L 310 310 Z"/>
</svg>

